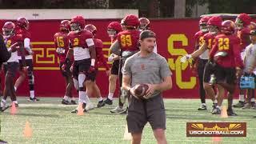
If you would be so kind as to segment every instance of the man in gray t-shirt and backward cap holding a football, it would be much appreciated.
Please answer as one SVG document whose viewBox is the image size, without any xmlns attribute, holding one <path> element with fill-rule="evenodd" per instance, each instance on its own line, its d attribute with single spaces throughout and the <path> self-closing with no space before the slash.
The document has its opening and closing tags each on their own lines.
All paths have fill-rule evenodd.
<svg viewBox="0 0 256 144">
<path fill-rule="evenodd" d="M 153 52 L 155 42 L 153 31 L 142 31 L 139 39 L 140 51 L 127 58 L 123 69 L 122 86 L 132 95 L 126 120 L 133 144 L 141 142 L 146 122 L 150 122 L 158 144 L 167 143 L 166 111 L 161 93 L 172 87 L 172 80 L 166 59 Z M 138 84 L 149 86 L 144 96 L 146 100 L 141 100 L 134 94 L 134 86 Z"/>
</svg>

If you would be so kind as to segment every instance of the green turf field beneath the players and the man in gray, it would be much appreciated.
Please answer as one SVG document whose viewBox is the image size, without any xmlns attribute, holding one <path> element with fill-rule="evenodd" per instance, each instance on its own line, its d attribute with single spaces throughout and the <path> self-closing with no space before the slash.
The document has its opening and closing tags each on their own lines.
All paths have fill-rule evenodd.
<svg viewBox="0 0 256 144">
<path fill-rule="evenodd" d="M 0 138 L 9 143 L 130 143 L 123 140 L 126 115 L 110 114 L 117 101 L 83 116 L 71 114 L 75 106 L 64 106 L 60 101 L 60 98 L 41 98 L 40 102 L 31 103 L 19 98 L 18 114 L 10 115 L 10 110 L 1 113 Z M 187 138 L 186 122 L 247 122 L 246 138 L 222 138 L 222 143 L 256 143 L 255 110 L 235 109 L 238 117 L 219 118 L 210 114 L 211 103 L 207 102 L 209 110 L 198 111 L 197 99 L 165 100 L 168 143 L 213 143 L 212 138 Z M 26 121 L 33 130 L 32 138 L 23 136 Z M 148 143 L 156 143 L 149 124 L 142 136 L 142 144 Z"/>
</svg>

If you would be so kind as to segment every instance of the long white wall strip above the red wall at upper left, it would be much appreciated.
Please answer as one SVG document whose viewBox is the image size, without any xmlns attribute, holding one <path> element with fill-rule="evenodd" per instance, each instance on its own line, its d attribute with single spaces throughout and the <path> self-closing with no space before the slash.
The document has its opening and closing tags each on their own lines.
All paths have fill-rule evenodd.
<svg viewBox="0 0 256 144">
<path fill-rule="evenodd" d="M 138 15 L 138 10 L 131 9 L 22 9 L 0 10 L 0 19 L 17 19 L 25 17 L 32 19 L 70 19 L 74 15 L 84 18 L 124 18 L 126 14 Z"/>
</svg>

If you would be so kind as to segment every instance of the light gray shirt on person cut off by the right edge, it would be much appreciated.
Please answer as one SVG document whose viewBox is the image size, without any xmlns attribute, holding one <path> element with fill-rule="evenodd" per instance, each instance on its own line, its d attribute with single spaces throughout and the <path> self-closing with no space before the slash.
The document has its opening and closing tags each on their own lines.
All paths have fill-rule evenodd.
<svg viewBox="0 0 256 144">
<path fill-rule="evenodd" d="M 255 62 L 256 62 L 256 44 L 250 44 L 246 46 L 246 56 L 244 59 L 244 72 L 248 73 L 249 69 L 255 69 Z"/>
</svg>

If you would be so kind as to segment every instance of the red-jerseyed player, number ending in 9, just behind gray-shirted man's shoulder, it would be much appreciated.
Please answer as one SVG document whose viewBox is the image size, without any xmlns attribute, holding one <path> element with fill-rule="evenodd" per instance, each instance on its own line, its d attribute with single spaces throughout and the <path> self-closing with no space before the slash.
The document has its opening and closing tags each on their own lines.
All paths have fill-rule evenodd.
<svg viewBox="0 0 256 144">
<path fill-rule="evenodd" d="M 126 61 L 126 58 L 129 58 L 131 55 L 138 52 L 138 39 L 140 31 L 138 30 L 139 21 L 138 17 L 132 14 L 129 14 L 124 18 L 123 24 L 126 26 L 126 30 L 118 33 L 117 41 L 110 46 L 110 53 L 118 54 L 121 56 L 120 65 L 119 65 L 119 84 L 120 84 L 120 96 L 119 104 L 114 110 L 110 110 L 111 113 L 121 113 L 126 114 L 127 109 L 123 109 L 123 105 L 126 97 L 129 97 L 129 94 L 126 90 L 122 88 L 122 66 Z M 129 98 L 128 98 L 129 100 Z"/>
</svg>

